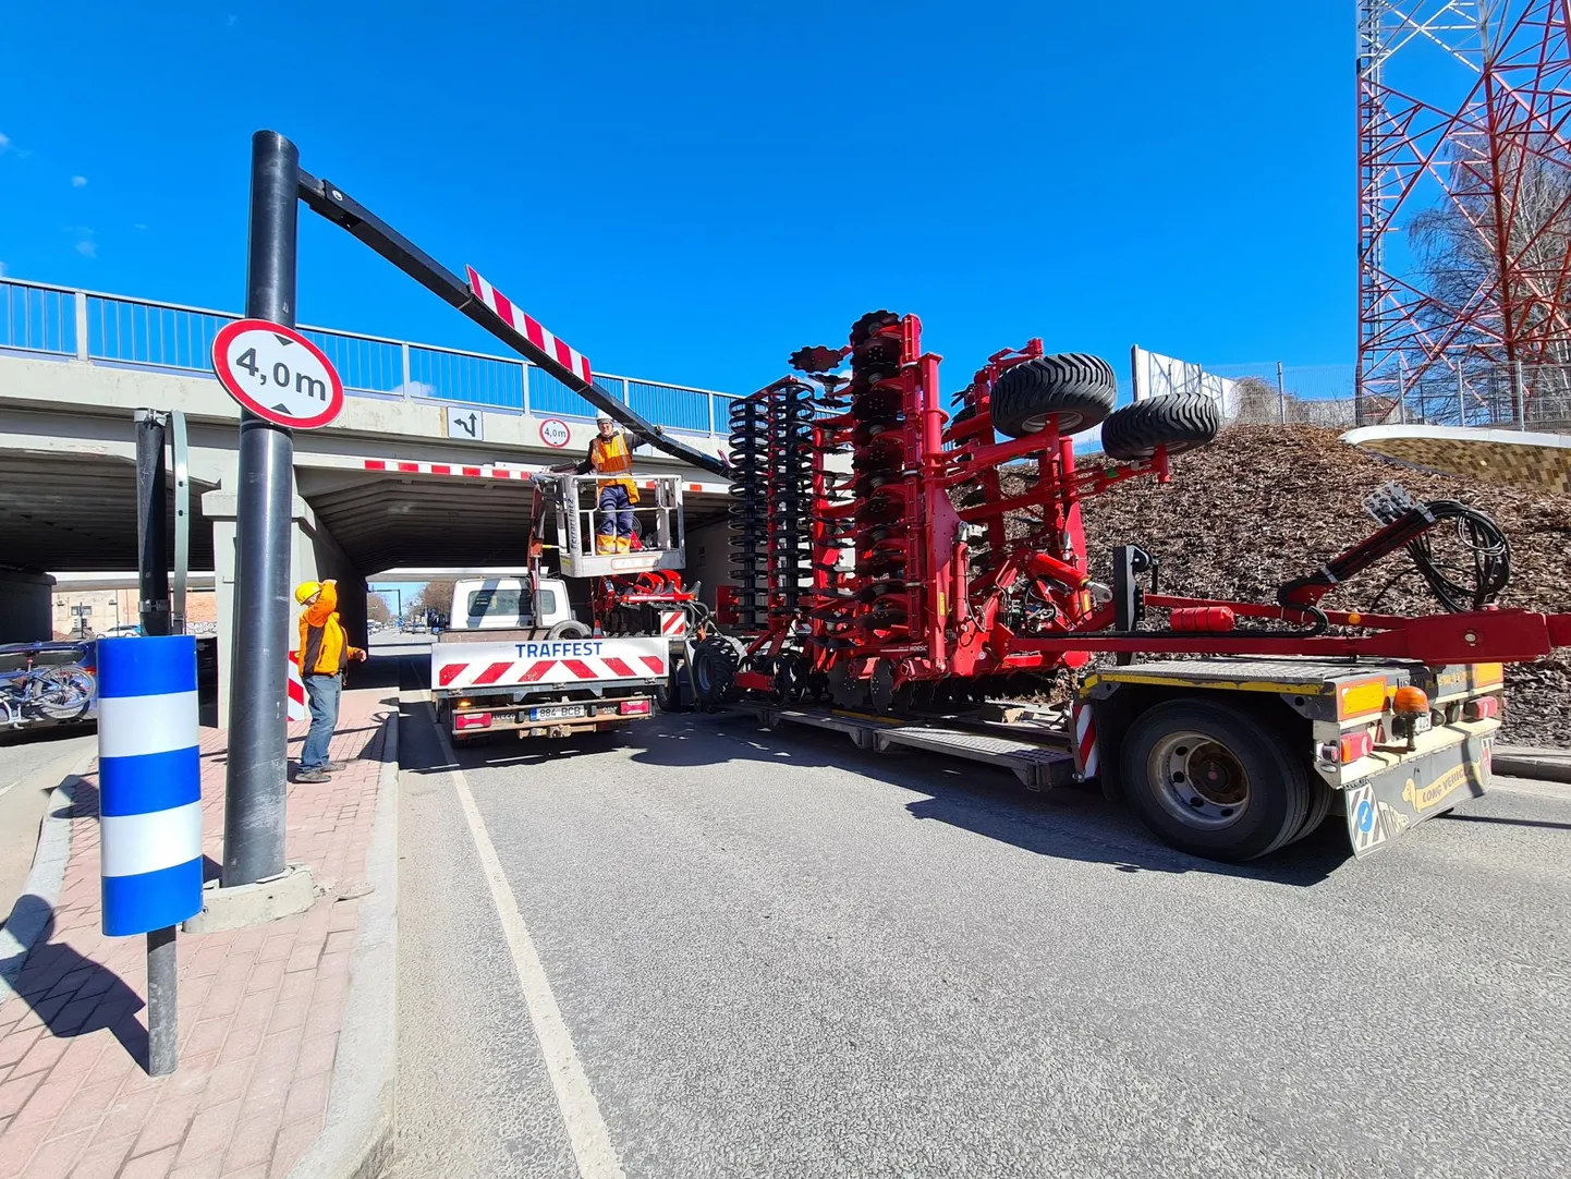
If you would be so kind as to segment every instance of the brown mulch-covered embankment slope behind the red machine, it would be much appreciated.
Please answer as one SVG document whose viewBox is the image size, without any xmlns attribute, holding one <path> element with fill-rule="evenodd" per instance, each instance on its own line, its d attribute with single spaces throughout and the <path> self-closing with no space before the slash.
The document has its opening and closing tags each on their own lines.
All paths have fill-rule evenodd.
<svg viewBox="0 0 1571 1179">
<path fill-rule="evenodd" d="M 1175 457 L 1169 484 L 1131 479 L 1086 500 L 1092 571 L 1106 577 L 1112 547 L 1137 544 L 1161 561 L 1164 593 L 1273 602 L 1282 582 L 1376 528 L 1362 501 L 1392 479 L 1419 500 L 1478 508 L 1505 530 L 1511 582 L 1499 605 L 1571 612 L 1571 495 L 1426 475 L 1309 426 L 1233 426 L 1213 445 Z M 1442 542 L 1437 536 L 1437 550 Z M 1342 610 L 1441 610 L 1404 552 L 1324 602 Z M 1571 747 L 1571 652 L 1508 667 L 1507 689 L 1503 740 Z"/>
</svg>

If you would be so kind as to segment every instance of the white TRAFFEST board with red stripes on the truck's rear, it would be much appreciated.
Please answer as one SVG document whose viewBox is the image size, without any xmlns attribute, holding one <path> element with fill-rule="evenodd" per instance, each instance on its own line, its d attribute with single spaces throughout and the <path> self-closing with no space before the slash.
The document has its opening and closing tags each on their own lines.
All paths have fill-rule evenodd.
<svg viewBox="0 0 1571 1179">
<path fill-rule="evenodd" d="M 669 646 L 665 638 L 437 643 L 430 649 L 430 682 L 459 690 L 665 679 Z"/>
</svg>

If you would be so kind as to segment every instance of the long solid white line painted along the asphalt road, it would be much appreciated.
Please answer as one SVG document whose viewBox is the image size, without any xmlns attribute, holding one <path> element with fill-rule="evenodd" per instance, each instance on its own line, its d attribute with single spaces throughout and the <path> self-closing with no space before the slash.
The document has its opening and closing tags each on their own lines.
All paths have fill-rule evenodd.
<svg viewBox="0 0 1571 1179">
<path fill-rule="evenodd" d="M 496 902 L 496 916 L 501 918 L 501 931 L 507 938 L 507 949 L 512 953 L 512 964 L 518 971 L 518 984 L 523 987 L 523 1000 L 529 1008 L 529 1022 L 534 1034 L 540 1041 L 540 1052 L 545 1055 L 545 1071 L 551 1077 L 551 1088 L 556 1091 L 556 1105 L 562 1111 L 562 1122 L 567 1126 L 567 1138 L 573 1148 L 573 1159 L 578 1162 L 578 1174 L 583 1179 L 624 1179 L 622 1163 L 611 1146 L 611 1135 L 600 1116 L 600 1104 L 589 1088 L 589 1077 L 584 1074 L 583 1061 L 573 1049 L 572 1034 L 562 1020 L 562 1012 L 556 1006 L 551 984 L 545 978 L 540 956 L 534 951 L 529 929 L 518 912 L 518 901 L 512 894 L 512 885 L 503 872 L 501 860 L 496 858 L 496 847 L 485 832 L 485 821 L 481 817 L 470 783 L 463 777 L 448 745 L 448 736 L 437 729 L 452 769 L 452 788 L 457 791 L 463 817 L 470 824 L 474 836 L 474 847 L 481 855 L 481 869 L 485 872 L 485 883 L 490 885 L 492 901 Z"/>
</svg>

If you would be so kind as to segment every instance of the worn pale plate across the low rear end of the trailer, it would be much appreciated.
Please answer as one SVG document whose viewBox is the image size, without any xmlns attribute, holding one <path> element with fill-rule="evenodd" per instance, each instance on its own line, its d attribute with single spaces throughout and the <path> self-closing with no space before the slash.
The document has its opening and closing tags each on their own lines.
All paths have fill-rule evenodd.
<svg viewBox="0 0 1571 1179">
<path fill-rule="evenodd" d="M 1353 854 L 1365 857 L 1411 827 L 1444 814 L 1489 786 L 1492 736 L 1419 753 L 1346 786 L 1348 838 Z"/>
</svg>

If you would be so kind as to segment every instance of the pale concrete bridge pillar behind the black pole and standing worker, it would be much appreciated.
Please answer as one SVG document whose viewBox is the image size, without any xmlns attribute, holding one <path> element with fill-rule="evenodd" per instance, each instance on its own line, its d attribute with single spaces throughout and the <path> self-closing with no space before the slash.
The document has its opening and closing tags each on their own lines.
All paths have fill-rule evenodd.
<svg viewBox="0 0 1571 1179">
<path fill-rule="evenodd" d="M 234 649 L 234 555 L 236 494 L 225 487 L 201 497 L 203 514 L 212 520 L 212 558 L 218 605 L 218 723 L 229 720 L 229 659 Z M 349 641 L 366 645 L 366 578 L 350 564 L 331 533 L 317 523 L 316 512 L 298 495 L 291 500 L 289 520 L 289 588 L 300 582 L 338 580 L 338 610 Z M 289 623 L 291 649 L 298 641 L 298 610 Z M 353 687 L 353 671 L 350 671 Z M 284 715 L 286 701 L 278 701 Z"/>
</svg>

